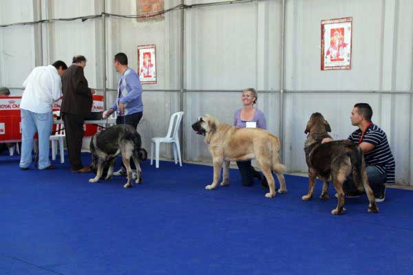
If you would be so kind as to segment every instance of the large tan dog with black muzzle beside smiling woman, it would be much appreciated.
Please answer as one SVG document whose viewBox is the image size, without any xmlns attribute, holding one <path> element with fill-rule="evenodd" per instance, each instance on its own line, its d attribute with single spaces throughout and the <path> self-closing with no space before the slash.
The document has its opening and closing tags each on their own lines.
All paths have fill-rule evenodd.
<svg viewBox="0 0 413 275">
<path fill-rule="evenodd" d="M 279 163 L 279 140 L 275 135 L 262 129 L 237 128 L 221 124 L 211 115 L 204 115 L 192 124 L 196 133 L 205 136 L 213 160 L 213 183 L 205 186 L 207 190 L 218 186 L 221 168 L 224 177 L 221 186 L 229 185 L 229 162 L 257 159 L 260 169 L 268 181 L 270 192 L 265 197 L 275 197 L 275 181 L 271 171 L 279 180 L 279 193 L 287 192 L 284 179 L 284 165 Z"/>
</svg>

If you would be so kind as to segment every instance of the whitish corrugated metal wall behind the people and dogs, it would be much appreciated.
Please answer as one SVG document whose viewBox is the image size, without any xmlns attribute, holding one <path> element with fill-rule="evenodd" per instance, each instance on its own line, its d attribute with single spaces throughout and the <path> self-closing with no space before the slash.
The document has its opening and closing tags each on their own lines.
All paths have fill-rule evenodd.
<svg viewBox="0 0 413 275">
<path fill-rule="evenodd" d="M 208 2 L 184 1 L 187 5 Z M 103 11 L 136 14 L 136 0 L 0 3 L 0 24 Z M 180 3 L 167 0 L 165 8 Z M 34 66 L 56 59 L 70 63 L 75 54 L 84 54 L 92 87 L 105 87 L 107 64 L 107 99 L 112 102 L 110 89 L 116 89 L 118 78 L 112 67 L 114 54 L 125 52 L 137 69 L 137 45 L 156 44 L 158 83 L 144 87 L 145 112 L 138 126 L 149 148 L 150 138 L 165 135 L 169 116 L 180 109 L 181 14 L 169 12 L 163 21 L 155 22 L 107 17 L 0 28 L 0 85 L 21 87 Z M 306 171 L 304 127 L 310 113 L 323 113 L 332 135 L 346 138 L 354 131 L 349 120 L 352 105 L 369 102 L 373 121 L 388 134 L 398 183 L 413 183 L 411 14 L 409 0 L 286 0 L 283 63 L 282 0 L 184 10 L 185 158 L 211 159 L 202 138 L 191 131 L 191 123 L 202 113 L 232 123 L 233 112 L 242 107 L 240 90 L 255 87 L 268 130 L 282 137 L 288 170 Z M 320 21 L 339 17 L 353 18 L 352 69 L 321 72 Z M 170 157 L 169 150 L 162 153 Z"/>
</svg>

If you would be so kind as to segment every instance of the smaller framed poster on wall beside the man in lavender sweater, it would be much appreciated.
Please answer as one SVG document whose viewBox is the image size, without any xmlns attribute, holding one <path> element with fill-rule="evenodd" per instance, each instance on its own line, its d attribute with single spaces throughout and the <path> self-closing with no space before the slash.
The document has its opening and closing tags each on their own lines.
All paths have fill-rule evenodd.
<svg viewBox="0 0 413 275">
<path fill-rule="evenodd" d="M 156 84 L 156 46 L 138 46 L 138 74 L 141 84 Z"/>
</svg>

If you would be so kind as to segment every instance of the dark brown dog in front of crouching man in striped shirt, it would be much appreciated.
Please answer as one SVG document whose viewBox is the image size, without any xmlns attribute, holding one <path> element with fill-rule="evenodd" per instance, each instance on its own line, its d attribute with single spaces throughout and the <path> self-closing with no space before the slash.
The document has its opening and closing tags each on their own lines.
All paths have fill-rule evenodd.
<svg viewBox="0 0 413 275">
<path fill-rule="evenodd" d="M 368 201 L 368 212 L 377 213 L 376 201 L 366 174 L 363 151 L 359 145 L 347 140 L 337 140 L 321 144 L 325 137 L 330 137 L 330 125 L 324 120 L 321 113 L 313 113 L 308 120 L 306 131 L 308 133 L 304 146 L 306 152 L 306 162 L 308 165 L 308 194 L 301 199 L 307 201 L 313 197 L 316 177 L 319 177 L 323 184 L 320 199 L 328 199 L 328 181 L 337 191 L 337 208 L 331 214 L 343 214 L 346 210 L 344 206 L 343 183 L 352 174 L 357 189 L 361 192 L 366 190 Z"/>
</svg>

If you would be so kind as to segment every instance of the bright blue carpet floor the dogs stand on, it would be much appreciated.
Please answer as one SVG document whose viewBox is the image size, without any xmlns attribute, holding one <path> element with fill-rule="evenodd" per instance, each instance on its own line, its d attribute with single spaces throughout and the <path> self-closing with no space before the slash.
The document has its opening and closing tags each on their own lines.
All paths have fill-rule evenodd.
<svg viewBox="0 0 413 275">
<path fill-rule="evenodd" d="M 67 159 L 67 157 L 66 157 Z M 83 154 L 84 164 L 90 156 Z M 301 201 L 308 179 L 286 175 L 274 199 L 258 181 L 205 190 L 213 168 L 142 163 L 143 183 L 89 184 L 92 174 L 19 170 L 0 155 L 1 274 L 412 274 L 413 192 L 388 189 L 379 214 L 366 196 Z M 119 166 L 119 162 L 118 165 Z"/>
</svg>

